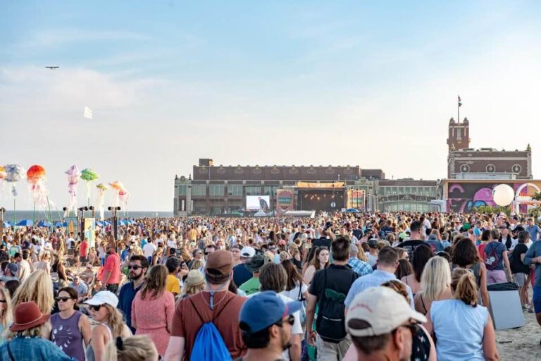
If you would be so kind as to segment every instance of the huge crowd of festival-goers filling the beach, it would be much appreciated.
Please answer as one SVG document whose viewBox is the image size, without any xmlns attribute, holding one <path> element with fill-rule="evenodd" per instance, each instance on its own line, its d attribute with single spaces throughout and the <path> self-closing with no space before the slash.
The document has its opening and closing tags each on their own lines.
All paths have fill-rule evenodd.
<svg viewBox="0 0 541 361">
<path fill-rule="evenodd" d="M 541 228 L 321 213 L 4 228 L 0 360 L 499 360 L 488 289 L 541 325 Z M 530 292 L 530 287 L 533 292 Z"/>
</svg>

